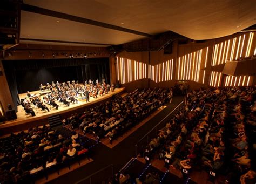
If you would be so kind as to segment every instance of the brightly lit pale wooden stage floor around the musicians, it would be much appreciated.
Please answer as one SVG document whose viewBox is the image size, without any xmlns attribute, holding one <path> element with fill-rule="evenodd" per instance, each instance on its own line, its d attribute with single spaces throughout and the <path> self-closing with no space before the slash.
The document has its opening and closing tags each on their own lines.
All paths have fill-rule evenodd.
<svg viewBox="0 0 256 184">
<path fill-rule="evenodd" d="M 18 112 L 17 114 L 17 119 L 16 120 L 11 120 L 11 121 L 6 121 L 4 124 L 0 125 L 0 129 L 1 128 L 6 128 L 6 127 L 10 127 L 10 126 L 16 126 L 16 125 L 21 125 L 23 123 L 28 123 L 28 122 L 32 122 L 32 121 L 36 121 L 36 120 L 40 120 L 40 119 L 44 119 L 44 118 L 48 118 L 51 117 L 52 115 L 57 115 L 57 114 L 62 114 L 62 113 L 66 113 L 69 111 L 73 111 L 73 110 L 77 110 L 79 108 L 82 107 L 86 107 L 95 103 L 98 103 L 104 99 L 110 98 L 112 97 L 114 94 L 118 94 L 120 92 L 123 92 L 125 90 L 125 88 L 116 88 L 113 92 L 109 92 L 108 94 L 104 94 L 104 96 L 98 96 L 97 98 L 92 98 L 90 97 L 90 102 L 86 103 L 86 101 L 78 101 L 78 104 L 73 104 L 70 103 L 70 106 L 66 106 L 63 103 L 57 103 L 59 105 L 58 110 L 56 110 L 56 108 L 49 108 L 50 106 L 48 106 L 50 112 L 48 111 L 43 111 L 39 108 L 37 108 L 36 110 L 34 109 L 36 116 L 32 117 L 30 114 L 26 115 L 25 110 L 23 109 L 23 107 L 21 105 L 18 106 Z M 31 94 L 38 94 L 41 91 L 33 91 L 30 92 Z M 19 97 L 22 99 L 24 97 L 26 97 L 26 93 L 23 94 L 19 94 Z"/>
</svg>

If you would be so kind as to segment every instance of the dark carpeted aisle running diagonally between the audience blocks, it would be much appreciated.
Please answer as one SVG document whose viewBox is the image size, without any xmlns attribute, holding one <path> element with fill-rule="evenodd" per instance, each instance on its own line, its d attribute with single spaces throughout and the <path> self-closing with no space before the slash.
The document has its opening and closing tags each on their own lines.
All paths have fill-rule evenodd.
<svg viewBox="0 0 256 184">
<path fill-rule="evenodd" d="M 163 111 L 153 117 L 142 127 L 139 127 L 138 130 L 133 132 L 129 137 L 120 142 L 120 144 L 113 149 L 110 149 L 103 144 L 97 144 L 91 149 L 90 157 L 94 160 L 93 162 L 82 166 L 75 171 L 71 171 L 60 178 L 52 180 L 49 183 L 75 183 L 110 164 L 113 164 L 114 173 L 116 173 L 135 155 L 135 145 L 137 144 L 138 140 L 149 132 L 156 124 L 158 124 L 161 119 L 174 110 L 174 108 L 177 107 L 183 100 L 183 96 L 173 97 L 172 103 L 167 104 L 167 107 Z M 178 111 L 178 109 L 176 111 Z M 174 111 L 172 115 L 174 115 L 176 111 Z M 97 176 L 104 179 L 109 175 L 104 175 L 104 172 L 102 172 Z"/>
</svg>

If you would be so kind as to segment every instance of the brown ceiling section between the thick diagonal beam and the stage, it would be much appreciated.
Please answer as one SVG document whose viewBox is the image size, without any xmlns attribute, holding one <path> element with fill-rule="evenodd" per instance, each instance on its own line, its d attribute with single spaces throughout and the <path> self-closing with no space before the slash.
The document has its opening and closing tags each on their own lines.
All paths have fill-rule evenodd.
<svg viewBox="0 0 256 184">
<path fill-rule="evenodd" d="M 122 44 L 144 38 L 122 31 L 67 21 L 22 11 L 21 38 L 65 40 L 98 44 Z M 59 21 L 59 23 L 57 23 Z"/>
</svg>

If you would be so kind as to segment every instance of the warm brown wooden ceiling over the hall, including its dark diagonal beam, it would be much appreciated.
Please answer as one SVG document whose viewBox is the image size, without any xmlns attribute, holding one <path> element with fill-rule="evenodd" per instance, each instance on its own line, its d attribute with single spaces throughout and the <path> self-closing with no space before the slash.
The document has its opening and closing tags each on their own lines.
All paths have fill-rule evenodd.
<svg viewBox="0 0 256 184">
<path fill-rule="evenodd" d="M 255 12 L 255 0 L 24 0 L 21 43 L 104 47 L 166 31 L 212 39 L 255 24 Z"/>
</svg>

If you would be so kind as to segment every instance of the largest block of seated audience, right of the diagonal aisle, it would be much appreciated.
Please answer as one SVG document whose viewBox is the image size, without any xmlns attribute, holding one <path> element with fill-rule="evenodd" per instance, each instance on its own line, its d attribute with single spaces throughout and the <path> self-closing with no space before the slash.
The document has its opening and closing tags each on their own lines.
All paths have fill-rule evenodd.
<svg viewBox="0 0 256 184">
<path fill-rule="evenodd" d="M 185 179 L 204 170 L 209 181 L 255 180 L 255 94 L 253 87 L 188 93 L 186 105 L 139 157 L 180 169 Z"/>
</svg>

